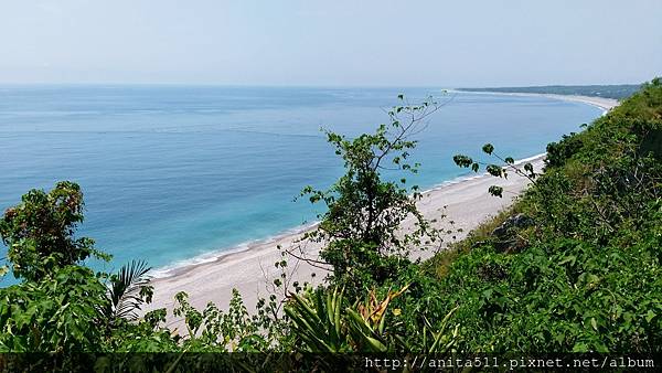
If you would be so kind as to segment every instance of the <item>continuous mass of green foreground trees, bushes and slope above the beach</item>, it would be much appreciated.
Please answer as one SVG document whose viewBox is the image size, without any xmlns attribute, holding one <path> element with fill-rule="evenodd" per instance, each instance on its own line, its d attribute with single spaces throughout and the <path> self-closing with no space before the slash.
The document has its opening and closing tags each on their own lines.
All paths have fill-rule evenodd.
<svg viewBox="0 0 662 373">
<path fill-rule="evenodd" d="M 395 107 L 388 126 L 352 140 L 328 134 L 346 173 L 329 191 L 303 190 L 329 207 L 309 236 L 324 243 L 319 264 L 332 269 L 324 285 L 297 287 L 285 305 L 274 295 L 250 312 L 236 291 L 228 310 L 197 310 L 180 292 L 173 312 L 186 330 L 179 332 L 164 326 L 166 309 L 135 318 L 151 300 L 145 264 L 116 275 L 84 265 L 90 255 L 106 256 L 89 238 L 75 238 L 83 221 L 76 184 L 29 192 L 0 222 L 22 280 L 0 289 L 0 351 L 71 358 L 10 362 L 54 370 L 89 363 L 79 352 L 171 352 L 145 358 L 145 365 L 131 365 L 130 354 L 92 363 L 98 371 L 172 372 L 221 370 L 209 355 L 183 352 L 257 352 L 259 359 L 245 355 L 235 365 L 249 371 L 338 367 L 278 352 L 662 352 L 662 82 L 549 143 L 543 174 L 520 169 L 491 145 L 482 150 L 499 163 L 457 156 L 461 167 L 484 166 L 498 178 L 510 170 L 533 185 L 467 239 L 418 263 L 408 253 L 437 232 L 416 210 L 417 189 L 382 180 L 380 168 L 416 169 L 406 162 L 416 145 L 407 136 L 434 109 Z M 406 216 L 419 230 L 397 235 Z"/>
</svg>

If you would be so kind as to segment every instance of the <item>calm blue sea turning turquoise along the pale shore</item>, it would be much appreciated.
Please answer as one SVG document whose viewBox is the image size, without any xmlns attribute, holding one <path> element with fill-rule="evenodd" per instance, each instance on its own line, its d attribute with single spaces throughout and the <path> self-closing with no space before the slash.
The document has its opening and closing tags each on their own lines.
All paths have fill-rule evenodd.
<svg viewBox="0 0 662 373">
<path fill-rule="evenodd" d="M 371 131 L 399 93 L 447 103 L 417 136 L 414 181 L 424 189 L 466 173 L 451 160 L 458 152 L 480 153 L 490 141 L 530 157 L 601 114 L 436 88 L 0 86 L 0 209 L 32 188 L 78 182 L 87 210 L 79 233 L 114 255 L 92 264 L 106 270 L 131 258 L 158 268 L 267 238 L 314 220 L 318 207 L 293 198 L 342 172 L 320 127 Z"/>
</svg>

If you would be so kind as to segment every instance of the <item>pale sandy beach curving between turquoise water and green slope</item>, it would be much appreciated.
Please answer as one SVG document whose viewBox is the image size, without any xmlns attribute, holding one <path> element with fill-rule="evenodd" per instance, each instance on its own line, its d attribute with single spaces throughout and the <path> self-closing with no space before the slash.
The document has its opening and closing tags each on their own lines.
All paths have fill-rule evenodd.
<svg viewBox="0 0 662 373">
<path fill-rule="evenodd" d="M 545 96 L 581 102 L 598 106 L 604 110 L 609 110 L 618 105 L 617 100 L 600 97 Z M 531 160 L 536 169 L 542 168 L 542 157 L 537 156 Z M 503 186 L 504 196 L 502 199 L 488 194 L 488 188 L 493 184 Z M 514 173 L 510 173 L 508 180 L 484 174 L 474 175 L 425 192 L 418 207 L 429 220 L 446 215 L 445 219 L 440 219 L 435 223 L 435 226 L 441 230 L 451 226 L 453 230 L 462 228 L 463 232 L 457 234 L 455 238 L 461 239 L 481 222 L 509 206 L 527 184 L 527 179 Z M 450 221 L 455 223 L 451 225 Z M 412 227 L 412 222 L 405 222 L 403 225 L 403 228 L 408 230 Z M 267 297 L 273 292 L 274 288 L 270 285 L 282 273 L 281 269 L 274 266 L 274 263 L 282 259 L 278 246 L 298 254 L 305 254 L 308 257 L 314 258 L 317 256 L 319 245 L 299 242 L 301 234 L 288 234 L 269 242 L 257 242 L 249 245 L 245 251 L 222 255 L 207 263 L 181 267 L 169 277 L 157 278 L 152 280 L 154 296 L 149 309 L 166 307 L 171 310 L 174 305 L 174 295 L 179 291 L 186 291 L 190 296 L 190 302 L 194 307 L 204 308 L 207 302 L 213 301 L 218 307 L 226 308 L 229 303 L 232 289 L 236 288 L 244 297 L 250 311 L 255 309 L 255 305 L 260 297 Z M 445 239 L 449 242 L 452 241 L 452 237 L 449 235 Z M 431 255 L 431 251 L 415 253 L 415 255 L 426 257 Z M 291 281 L 317 283 L 323 276 L 324 271 L 322 269 L 289 257 L 287 278 L 290 286 Z M 279 296 L 281 297 L 282 294 Z M 179 324 L 181 320 L 169 318 L 171 324 Z"/>
</svg>

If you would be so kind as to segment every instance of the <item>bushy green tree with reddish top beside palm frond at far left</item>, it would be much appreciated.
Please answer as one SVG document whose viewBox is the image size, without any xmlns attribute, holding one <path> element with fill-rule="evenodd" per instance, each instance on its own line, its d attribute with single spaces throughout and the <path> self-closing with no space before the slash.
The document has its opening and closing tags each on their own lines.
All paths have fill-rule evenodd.
<svg viewBox="0 0 662 373">
<path fill-rule="evenodd" d="M 81 265 L 110 257 L 92 238 L 74 237 L 83 206 L 81 188 L 63 181 L 28 192 L 0 221 L 10 266 L 23 279 L 0 289 L 1 351 L 93 351 L 151 301 L 145 262 L 111 276 Z"/>
</svg>

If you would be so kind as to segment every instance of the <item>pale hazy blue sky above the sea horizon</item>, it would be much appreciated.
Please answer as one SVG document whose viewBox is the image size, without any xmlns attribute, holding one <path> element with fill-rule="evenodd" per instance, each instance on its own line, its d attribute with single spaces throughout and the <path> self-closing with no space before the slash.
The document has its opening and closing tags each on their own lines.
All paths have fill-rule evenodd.
<svg viewBox="0 0 662 373">
<path fill-rule="evenodd" d="M 0 0 L 0 84 L 641 83 L 661 20 L 660 0 Z"/>
</svg>

